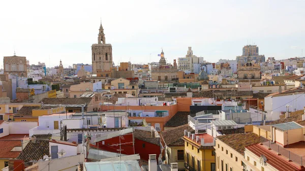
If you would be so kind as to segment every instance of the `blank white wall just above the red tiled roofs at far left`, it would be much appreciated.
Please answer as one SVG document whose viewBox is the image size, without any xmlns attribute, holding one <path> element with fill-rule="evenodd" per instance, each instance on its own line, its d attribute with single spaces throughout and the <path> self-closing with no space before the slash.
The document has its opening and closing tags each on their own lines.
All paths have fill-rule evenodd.
<svg viewBox="0 0 305 171">
<path fill-rule="evenodd" d="M 9 133 L 10 134 L 27 134 L 30 129 L 36 127 L 38 122 L 10 122 Z"/>
</svg>

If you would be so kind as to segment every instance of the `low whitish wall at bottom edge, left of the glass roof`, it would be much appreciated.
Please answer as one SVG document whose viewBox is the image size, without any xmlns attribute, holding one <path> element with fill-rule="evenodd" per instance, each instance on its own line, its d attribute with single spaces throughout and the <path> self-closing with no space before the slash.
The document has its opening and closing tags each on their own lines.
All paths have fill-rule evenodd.
<svg viewBox="0 0 305 171">
<path fill-rule="evenodd" d="M 51 162 L 52 164 L 49 165 L 49 162 Z M 84 162 L 84 154 L 51 159 L 50 161 L 39 161 L 38 168 L 40 171 L 75 171 L 79 162 Z"/>
</svg>

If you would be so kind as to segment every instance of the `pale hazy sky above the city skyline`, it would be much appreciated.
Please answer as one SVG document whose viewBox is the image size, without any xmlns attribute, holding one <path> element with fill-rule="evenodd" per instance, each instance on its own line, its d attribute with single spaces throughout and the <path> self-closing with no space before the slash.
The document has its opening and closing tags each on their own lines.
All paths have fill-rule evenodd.
<svg viewBox="0 0 305 171">
<path fill-rule="evenodd" d="M 115 64 L 159 61 L 161 47 L 171 63 L 189 46 L 207 61 L 235 59 L 247 43 L 283 59 L 305 55 L 304 8 L 292 0 L 1 1 L 0 56 L 15 49 L 31 64 L 91 63 L 102 18 Z"/>
</svg>

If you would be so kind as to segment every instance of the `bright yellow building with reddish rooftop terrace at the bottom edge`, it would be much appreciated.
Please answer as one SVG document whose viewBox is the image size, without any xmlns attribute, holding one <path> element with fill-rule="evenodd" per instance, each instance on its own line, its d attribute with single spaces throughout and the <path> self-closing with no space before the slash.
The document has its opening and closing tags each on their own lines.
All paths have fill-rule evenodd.
<svg viewBox="0 0 305 171">
<path fill-rule="evenodd" d="M 215 140 L 207 133 L 191 134 L 185 131 L 185 168 L 191 170 L 216 169 Z"/>
</svg>

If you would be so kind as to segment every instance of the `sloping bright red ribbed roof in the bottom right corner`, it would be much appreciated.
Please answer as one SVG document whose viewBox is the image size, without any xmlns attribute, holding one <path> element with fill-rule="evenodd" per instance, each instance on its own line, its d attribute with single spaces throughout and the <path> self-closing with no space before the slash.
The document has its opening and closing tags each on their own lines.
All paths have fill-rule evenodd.
<svg viewBox="0 0 305 171">
<path fill-rule="evenodd" d="M 291 164 L 292 162 L 289 162 L 287 159 L 285 160 L 283 157 L 278 156 L 276 153 L 263 147 L 263 145 L 255 144 L 246 147 L 246 149 L 251 151 L 253 154 L 255 154 L 258 157 L 264 155 L 267 158 L 266 163 L 270 164 L 272 167 L 275 167 L 277 170 L 280 171 L 301 170 L 300 168 L 297 168 L 297 166 L 292 165 Z"/>
</svg>

